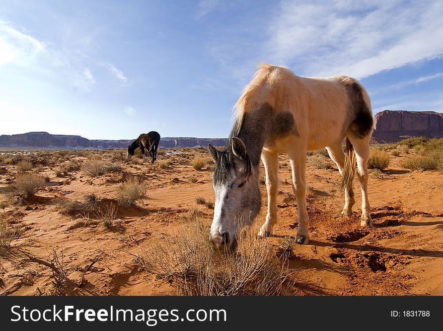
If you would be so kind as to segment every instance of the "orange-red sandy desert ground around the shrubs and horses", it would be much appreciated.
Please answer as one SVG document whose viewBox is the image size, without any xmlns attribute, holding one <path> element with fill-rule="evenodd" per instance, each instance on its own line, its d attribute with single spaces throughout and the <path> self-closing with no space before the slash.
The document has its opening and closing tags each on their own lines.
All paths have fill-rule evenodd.
<svg viewBox="0 0 443 331">
<path fill-rule="evenodd" d="M 167 151 L 154 165 L 122 163 L 121 172 L 100 177 L 90 177 L 80 169 L 57 177 L 53 169 L 44 167 L 40 173 L 49 182 L 36 196 L 0 210 L 3 219 L 21 229 L 20 238 L 0 251 L 0 294 L 50 293 L 55 281 L 51 268 L 29 256 L 50 261 L 55 251 L 67 270 L 63 294 L 174 295 L 173 288 L 142 270 L 134 256 L 151 240 L 185 227 L 185 216 L 192 208 L 201 208 L 210 224 L 213 209 L 197 205 L 195 198 L 213 202 L 214 193 L 211 166 L 192 167 L 195 153 L 209 158 L 206 149 Z M 407 156 L 390 156 L 382 178 L 369 180 L 371 229 L 359 226 L 358 184 L 353 216 L 341 216 L 344 197 L 338 190 L 335 165 L 329 170 L 308 166 L 311 241 L 294 244 L 289 267 L 297 272 L 298 281 L 293 295 L 443 295 L 443 174 L 410 172 L 399 165 L 403 157 Z M 167 160 L 172 165 L 161 169 L 160 163 Z M 0 164 L 0 193 L 16 173 L 15 166 Z M 279 173 L 279 222 L 273 236 L 263 239 L 276 250 L 284 236 L 294 237 L 298 226 L 286 155 L 280 156 Z M 137 206 L 119 208 L 111 228 L 98 222 L 81 226 L 59 213 L 60 203 L 86 194 L 115 199 L 125 174 L 144 180 L 147 196 Z M 266 187 L 260 187 L 263 204 L 257 222 L 262 223 L 267 201 Z"/>
</svg>

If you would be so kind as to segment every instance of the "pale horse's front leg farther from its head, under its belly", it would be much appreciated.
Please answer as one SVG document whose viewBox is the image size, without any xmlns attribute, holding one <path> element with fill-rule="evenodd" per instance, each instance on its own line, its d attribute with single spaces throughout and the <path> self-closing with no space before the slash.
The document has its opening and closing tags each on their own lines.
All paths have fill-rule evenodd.
<svg viewBox="0 0 443 331">
<path fill-rule="evenodd" d="M 298 222 L 296 242 L 309 243 L 309 216 L 306 207 L 306 152 L 288 155 L 292 171 L 292 190 L 297 199 Z"/>
</svg>

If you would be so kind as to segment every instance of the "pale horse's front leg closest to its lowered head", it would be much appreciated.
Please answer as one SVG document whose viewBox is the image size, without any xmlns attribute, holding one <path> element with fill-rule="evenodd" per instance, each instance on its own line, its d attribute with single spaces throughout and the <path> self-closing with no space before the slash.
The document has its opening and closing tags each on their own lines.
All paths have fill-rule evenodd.
<svg viewBox="0 0 443 331">
<path fill-rule="evenodd" d="M 258 235 L 268 237 L 272 234 L 272 227 L 277 223 L 278 154 L 264 149 L 261 154 L 261 159 L 266 174 L 268 210 L 266 213 L 266 221 L 260 228 Z"/>
</svg>

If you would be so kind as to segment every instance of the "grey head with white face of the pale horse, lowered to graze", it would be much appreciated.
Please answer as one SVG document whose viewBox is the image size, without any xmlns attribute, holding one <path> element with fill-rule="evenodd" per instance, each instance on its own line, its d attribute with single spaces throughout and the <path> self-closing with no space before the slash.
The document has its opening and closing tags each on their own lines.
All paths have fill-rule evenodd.
<svg viewBox="0 0 443 331">
<path fill-rule="evenodd" d="M 251 224 L 260 211 L 258 169 L 252 167 L 246 147 L 239 138 L 232 138 L 232 147 L 223 151 L 210 144 L 208 148 L 215 162 L 212 176 L 215 205 L 210 239 L 218 249 L 234 250 L 239 231 Z"/>
</svg>

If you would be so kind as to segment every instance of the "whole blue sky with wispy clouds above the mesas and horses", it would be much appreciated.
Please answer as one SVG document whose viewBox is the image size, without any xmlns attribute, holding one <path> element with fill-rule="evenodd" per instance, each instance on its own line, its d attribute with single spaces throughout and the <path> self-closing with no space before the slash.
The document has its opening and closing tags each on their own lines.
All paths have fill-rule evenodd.
<svg viewBox="0 0 443 331">
<path fill-rule="evenodd" d="M 443 112 L 443 2 L 0 2 L 0 134 L 225 138 L 262 62 Z"/>
</svg>

